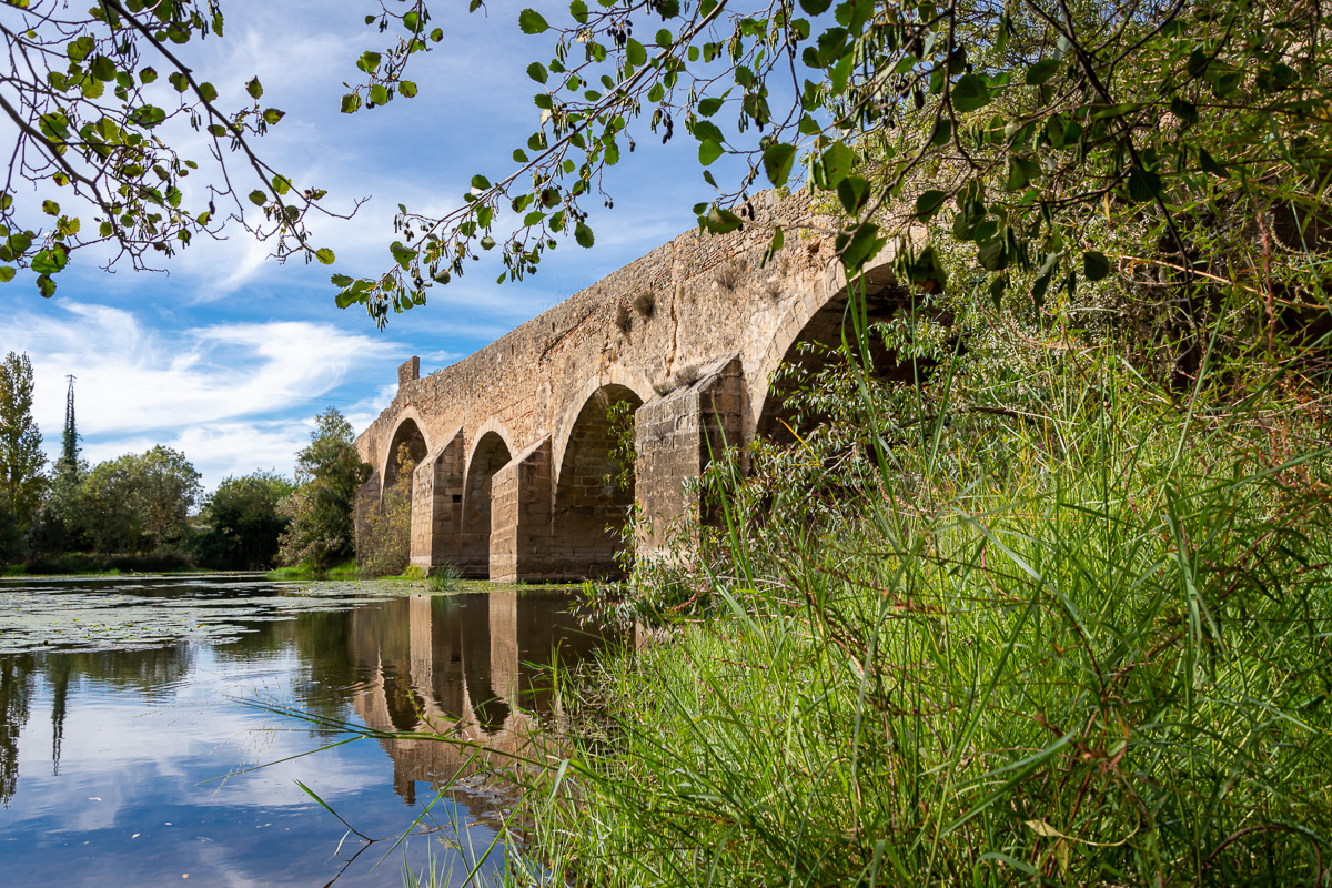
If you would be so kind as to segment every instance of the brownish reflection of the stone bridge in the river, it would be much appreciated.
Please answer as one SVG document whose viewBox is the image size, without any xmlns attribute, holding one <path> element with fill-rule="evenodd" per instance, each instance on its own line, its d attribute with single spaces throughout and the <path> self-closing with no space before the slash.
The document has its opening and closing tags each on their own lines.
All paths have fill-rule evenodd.
<svg viewBox="0 0 1332 888">
<path fill-rule="evenodd" d="M 533 730 L 561 718 L 550 664 L 571 666 L 606 643 L 569 603 L 566 594 L 541 591 L 416 594 L 352 615 L 352 655 L 365 676 L 353 699 L 361 720 L 464 742 L 381 742 L 405 803 L 416 803 L 417 780 L 448 791 L 456 779 L 535 752 Z M 481 813 L 476 795 L 466 796 Z"/>
</svg>

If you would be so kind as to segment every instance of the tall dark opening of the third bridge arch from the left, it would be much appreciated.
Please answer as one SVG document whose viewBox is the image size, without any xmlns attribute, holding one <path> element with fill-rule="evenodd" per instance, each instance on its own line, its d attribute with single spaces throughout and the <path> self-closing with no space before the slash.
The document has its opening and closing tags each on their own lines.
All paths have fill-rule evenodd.
<svg viewBox="0 0 1332 888">
<path fill-rule="evenodd" d="M 633 389 L 607 385 L 583 403 L 559 465 L 551 566 L 565 579 L 623 575 L 623 539 L 634 505 Z"/>
</svg>

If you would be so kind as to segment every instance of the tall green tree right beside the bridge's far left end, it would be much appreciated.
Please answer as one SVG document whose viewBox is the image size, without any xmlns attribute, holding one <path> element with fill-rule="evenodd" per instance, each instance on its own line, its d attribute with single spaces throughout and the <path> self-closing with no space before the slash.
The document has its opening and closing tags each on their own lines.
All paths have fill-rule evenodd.
<svg viewBox="0 0 1332 888">
<path fill-rule="evenodd" d="M 353 502 L 370 467 L 361 462 L 352 425 L 337 407 L 314 422 L 310 443 L 297 454 L 296 490 L 282 506 L 292 523 L 282 534 L 280 560 L 321 570 L 356 553 Z"/>
</svg>

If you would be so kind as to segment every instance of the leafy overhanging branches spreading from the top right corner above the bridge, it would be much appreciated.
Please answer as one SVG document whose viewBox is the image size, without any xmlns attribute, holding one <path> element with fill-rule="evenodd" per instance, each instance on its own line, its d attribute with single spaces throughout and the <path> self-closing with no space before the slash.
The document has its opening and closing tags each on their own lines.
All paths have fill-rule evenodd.
<svg viewBox="0 0 1332 888">
<path fill-rule="evenodd" d="M 420 43 L 428 13 L 413 11 Z M 503 282 L 534 273 L 555 236 L 590 246 L 589 196 L 613 205 L 606 168 L 677 122 L 717 189 L 694 208 L 703 230 L 746 225 L 753 189 L 807 184 L 842 213 L 848 270 L 896 238 L 899 270 L 927 292 L 946 281 L 934 246 L 906 237 L 922 224 L 974 244 L 995 301 L 1020 290 L 1036 308 L 1144 262 L 1244 277 L 1253 262 L 1217 262 L 1257 238 L 1213 224 L 1227 214 L 1280 205 L 1299 237 L 1329 225 L 1332 60 L 1309 3 L 573 0 L 549 15 L 518 16 L 554 45 L 527 67 L 539 128 L 514 166 L 478 173 L 444 217 L 400 206 L 393 265 L 336 276 L 338 305 L 382 324 L 481 253 Z M 713 174 L 726 156 L 738 178 Z M 1208 258 L 1189 258 L 1203 241 Z"/>
</svg>

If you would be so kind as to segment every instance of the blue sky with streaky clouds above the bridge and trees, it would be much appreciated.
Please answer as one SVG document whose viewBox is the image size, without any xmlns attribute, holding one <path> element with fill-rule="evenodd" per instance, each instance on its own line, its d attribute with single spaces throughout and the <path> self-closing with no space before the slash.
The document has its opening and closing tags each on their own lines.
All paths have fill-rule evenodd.
<svg viewBox="0 0 1332 888">
<path fill-rule="evenodd" d="M 337 406 L 360 430 L 392 398 L 408 357 L 421 355 L 422 373 L 446 366 L 691 228 L 690 206 L 713 193 L 697 144 L 681 126 L 662 146 L 645 126 L 638 150 L 607 178 L 614 209 L 589 204 L 598 210 L 591 250 L 563 241 L 537 276 L 503 286 L 494 284 L 498 266 L 481 262 L 432 289 L 425 308 L 392 316 L 384 332 L 362 309 L 333 305 L 330 272 L 370 274 L 390 261 L 400 202 L 442 214 L 474 173 L 496 180 L 513 169 L 511 149 L 539 122 L 525 69 L 547 61 L 551 47 L 550 35 L 518 31 L 523 5 L 551 21 L 567 16 L 565 4 L 533 0 L 492 0 L 476 15 L 460 0 L 436 0 L 432 24 L 446 36 L 413 59 L 420 96 L 349 116 L 338 113 L 342 81 L 360 77 L 362 51 L 388 45 L 389 35 L 364 24 L 377 3 L 228 0 L 226 37 L 186 47 L 189 64 L 230 107 L 260 77 L 264 103 L 288 114 L 257 144 L 297 188 L 328 189 L 325 202 L 338 209 L 369 201 L 352 220 L 316 225 L 316 241 L 337 253 L 332 269 L 280 265 L 265 258 L 270 245 L 233 226 L 225 241 L 196 240 L 164 273 L 107 273 L 83 252 L 52 300 L 23 276 L 0 286 L 0 353 L 32 359 L 48 453 L 60 446 L 72 373 L 84 455 L 95 463 L 163 443 L 185 453 L 206 489 L 256 469 L 290 474 L 324 407 Z M 184 153 L 204 161 L 196 144 Z"/>
</svg>

